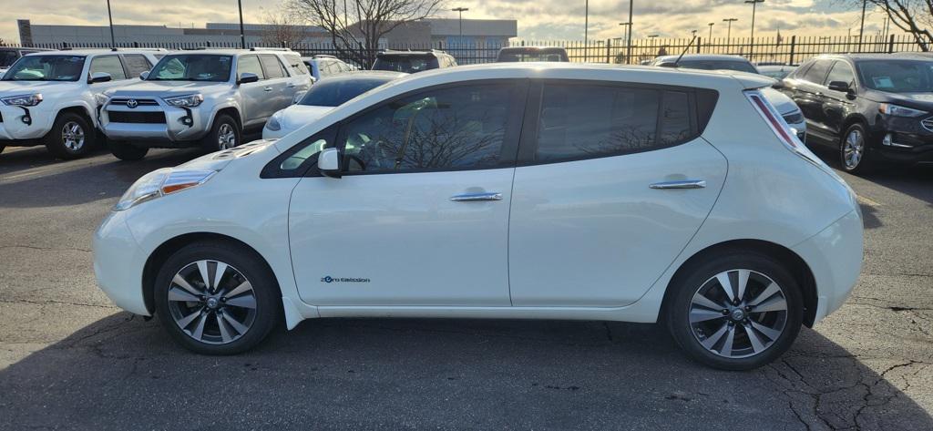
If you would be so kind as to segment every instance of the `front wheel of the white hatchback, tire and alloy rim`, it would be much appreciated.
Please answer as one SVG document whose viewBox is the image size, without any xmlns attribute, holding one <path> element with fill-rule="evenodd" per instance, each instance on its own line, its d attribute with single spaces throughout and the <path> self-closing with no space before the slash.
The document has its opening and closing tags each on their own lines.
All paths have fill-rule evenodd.
<svg viewBox="0 0 933 431">
<path fill-rule="evenodd" d="M 255 347 L 280 320 L 281 295 L 261 258 L 230 243 L 194 243 L 156 278 L 156 313 L 189 350 L 233 355 Z"/>
</svg>

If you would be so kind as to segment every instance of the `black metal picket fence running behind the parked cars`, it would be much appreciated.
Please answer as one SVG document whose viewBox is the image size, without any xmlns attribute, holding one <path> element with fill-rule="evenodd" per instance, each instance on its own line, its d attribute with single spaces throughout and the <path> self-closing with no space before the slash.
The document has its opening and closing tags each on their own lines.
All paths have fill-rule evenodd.
<svg viewBox="0 0 933 431">
<path fill-rule="evenodd" d="M 258 44 L 248 44 L 247 48 L 256 48 Z M 517 41 L 512 42 L 511 46 L 522 47 L 559 47 L 567 51 L 571 62 L 576 63 L 641 63 L 651 60 L 659 55 L 677 55 L 681 52 L 689 53 L 707 53 L 707 54 L 733 54 L 741 55 L 754 63 L 782 63 L 799 64 L 807 59 L 824 53 L 846 53 L 846 52 L 900 52 L 900 51 L 922 51 L 926 47 L 921 46 L 912 35 L 890 35 L 882 37 L 880 35 L 866 36 L 859 43 L 857 36 L 796 36 L 789 35 L 784 37 L 756 37 L 754 40 L 745 37 L 717 38 L 704 40 L 697 37 L 692 41 L 690 38 L 646 38 L 634 39 L 629 54 L 629 45 L 622 38 L 591 40 L 587 43 L 582 41 Z M 120 42 L 118 48 L 163 48 L 163 49 L 201 49 L 201 48 L 219 48 L 219 49 L 238 49 L 239 42 L 178 42 L 178 43 L 149 43 L 139 42 Z M 90 43 L 90 44 L 39 44 L 34 48 L 45 49 L 108 49 L 109 43 Z M 329 54 L 345 58 L 341 51 L 334 49 L 328 44 L 295 44 L 289 48 L 299 51 L 302 55 Z M 496 53 L 501 48 L 498 45 L 458 45 L 445 44 L 404 44 L 390 45 L 388 49 L 397 50 L 425 50 L 441 49 L 447 51 L 459 64 L 473 63 L 493 63 Z M 355 63 L 371 63 L 379 49 L 357 49 L 354 56 Z M 363 59 L 360 61 L 360 59 Z M 369 64 L 362 64 L 369 66 Z"/>
</svg>

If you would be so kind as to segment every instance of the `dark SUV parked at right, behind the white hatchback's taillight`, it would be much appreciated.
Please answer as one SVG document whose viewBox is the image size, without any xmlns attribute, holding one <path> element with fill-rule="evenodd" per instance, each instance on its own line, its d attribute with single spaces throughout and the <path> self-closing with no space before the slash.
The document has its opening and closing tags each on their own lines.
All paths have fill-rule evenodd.
<svg viewBox="0 0 933 431">
<path fill-rule="evenodd" d="M 842 169 L 933 160 L 933 60 L 822 55 L 784 78 L 807 119 L 807 143 L 837 151 Z"/>
</svg>

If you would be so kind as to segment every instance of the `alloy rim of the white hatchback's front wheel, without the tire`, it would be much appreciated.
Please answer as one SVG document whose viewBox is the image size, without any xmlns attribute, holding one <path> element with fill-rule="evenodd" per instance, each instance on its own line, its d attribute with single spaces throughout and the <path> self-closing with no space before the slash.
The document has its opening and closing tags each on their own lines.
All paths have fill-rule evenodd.
<svg viewBox="0 0 933 431">
<path fill-rule="evenodd" d="M 216 260 L 198 260 L 175 273 L 168 300 L 174 323 L 207 344 L 239 340 L 256 321 L 253 285 L 242 272 Z"/>
</svg>

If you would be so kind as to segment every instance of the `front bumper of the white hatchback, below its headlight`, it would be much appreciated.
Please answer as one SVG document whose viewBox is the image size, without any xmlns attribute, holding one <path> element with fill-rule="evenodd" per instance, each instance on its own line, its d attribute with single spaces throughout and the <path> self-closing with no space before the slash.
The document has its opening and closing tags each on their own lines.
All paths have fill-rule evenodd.
<svg viewBox="0 0 933 431">
<path fill-rule="evenodd" d="M 132 237 L 125 215 L 110 213 L 94 233 L 94 275 L 97 285 L 119 308 L 147 316 L 151 313 L 143 297 L 146 256 Z"/>
</svg>

